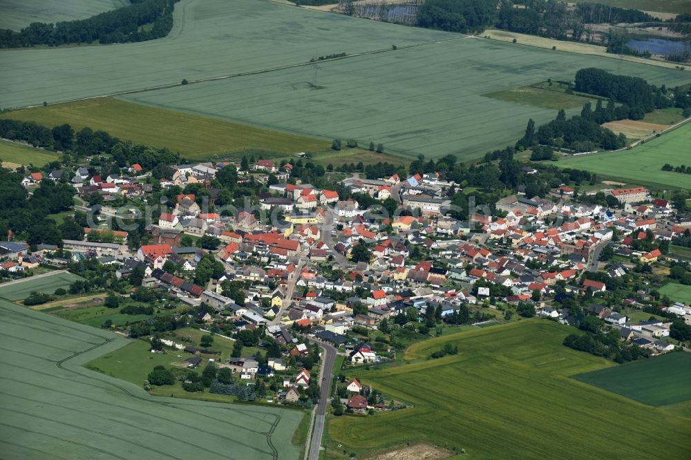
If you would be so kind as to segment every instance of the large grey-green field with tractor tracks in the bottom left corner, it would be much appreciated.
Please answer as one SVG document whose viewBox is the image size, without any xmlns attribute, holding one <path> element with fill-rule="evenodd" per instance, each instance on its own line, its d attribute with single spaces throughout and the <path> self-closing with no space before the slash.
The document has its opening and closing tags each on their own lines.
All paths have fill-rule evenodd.
<svg viewBox="0 0 691 460">
<path fill-rule="evenodd" d="M 0 300 L 8 459 L 296 459 L 303 414 L 160 398 L 82 367 L 126 338 Z"/>
</svg>

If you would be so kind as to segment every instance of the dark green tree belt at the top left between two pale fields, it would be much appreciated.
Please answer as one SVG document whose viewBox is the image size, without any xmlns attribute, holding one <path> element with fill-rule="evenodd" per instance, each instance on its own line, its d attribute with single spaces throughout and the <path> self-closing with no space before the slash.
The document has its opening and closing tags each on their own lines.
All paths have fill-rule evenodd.
<svg viewBox="0 0 691 460">
<path fill-rule="evenodd" d="M 131 0 L 117 10 L 88 19 L 56 24 L 34 22 L 19 32 L 0 30 L 0 48 L 36 45 L 100 44 L 146 41 L 165 37 L 173 27 L 173 7 L 179 0 Z M 142 26 L 152 24 L 150 30 Z"/>
</svg>

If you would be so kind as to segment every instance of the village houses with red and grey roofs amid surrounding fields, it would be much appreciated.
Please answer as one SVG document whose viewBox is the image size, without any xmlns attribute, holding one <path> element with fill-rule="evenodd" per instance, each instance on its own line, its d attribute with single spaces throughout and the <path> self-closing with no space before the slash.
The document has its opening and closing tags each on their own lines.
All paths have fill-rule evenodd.
<svg viewBox="0 0 691 460">
<path fill-rule="evenodd" d="M 555 294 L 556 285 L 567 293 L 588 291 L 597 296 L 607 290 L 606 283 L 584 274 L 598 267 L 603 248 L 612 245 L 619 256 L 656 262 L 661 251 L 638 250 L 636 240 L 652 233 L 655 241 L 670 241 L 691 228 L 691 221 L 677 218 L 670 202 L 650 197 L 642 187 L 607 191 L 621 204 L 616 209 L 578 202 L 574 189 L 560 186 L 546 197 L 506 196 L 496 203 L 495 213 L 471 210 L 466 220 L 459 220 L 452 217 L 448 193 L 460 184 L 445 180 L 442 173 L 404 178 L 394 174 L 377 180 L 356 175 L 334 187 L 347 192 L 341 196 L 336 190 L 291 180 L 292 164 L 278 166 L 272 160 L 258 160 L 238 175 L 238 182 L 266 184 L 265 193 L 257 197 L 261 209 L 281 211 L 279 218 L 262 220 L 256 209 L 214 211 L 218 189 L 211 180 L 228 165 L 173 166 L 172 178 L 161 179 L 160 186 L 200 183 L 209 191 L 209 209 L 202 209 L 194 194 L 176 195 L 146 228 L 147 244 L 130 247 L 128 233 L 117 230 L 113 241 L 99 242 L 90 236 L 104 230 L 87 228 L 84 240 L 64 240 L 63 249 L 73 258 L 99 258 L 117 266 L 119 278 L 126 279 L 139 267 L 145 274 L 143 286 L 164 289 L 191 307 L 211 307 L 213 313 L 202 318 L 205 322 L 223 318 L 238 330 L 265 328 L 268 336 L 292 347 L 290 353 L 299 357 L 306 347 L 294 343 L 289 330 L 297 327 L 343 347 L 352 365 L 366 365 L 381 356 L 367 343 L 352 341 L 349 331 L 377 329 L 382 320 L 411 308 L 422 317 L 433 307 L 444 318 L 491 298 L 509 305 L 533 303 L 539 316 L 572 323 L 568 309 L 560 311 L 545 302 Z M 93 193 L 103 198 L 97 208 L 106 220 L 120 212 L 108 205 L 113 197 L 146 200 L 152 190 L 150 181 L 142 180 L 147 175 L 138 164 L 106 178 L 79 168 L 70 182 L 85 200 Z M 57 170 L 48 178 L 60 176 Z M 43 179 L 41 173 L 30 173 L 24 182 L 31 187 Z M 359 195 L 396 200 L 409 212 L 384 217 L 370 213 L 359 205 Z M 615 234 L 620 236 L 616 240 Z M 218 244 L 211 249 L 182 245 L 186 236 L 212 237 Z M 39 245 L 32 251 L 21 242 L 0 242 L 1 267 L 21 271 L 38 265 L 55 249 Z M 193 274 L 209 254 L 223 264 L 223 274 L 207 285 L 196 285 Z M 178 268 L 176 273 L 164 269 L 169 261 Z M 621 277 L 628 271 L 630 265 L 614 264 L 607 276 Z M 241 299 L 223 295 L 226 281 L 243 283 Z M 504 287 L 502 296 L 493 295 L 489 285 Z M 669 334 L 668 322 L 632 323 L 596 300 L 592 313 L 621 328 L 623 338 L 658 351 L 669 349 L 659 340 Z M 691 319 L 686 305 L 670 311 Z M 245 378 L 270 374 L 283 362 L 274 359 L 260 366 L 236 359 L 225 365 Z M 310 373 L 301 370 L 285 382 L 283 397 L 296 398 L 294 389 L 309 379 Z"/>
</svg>

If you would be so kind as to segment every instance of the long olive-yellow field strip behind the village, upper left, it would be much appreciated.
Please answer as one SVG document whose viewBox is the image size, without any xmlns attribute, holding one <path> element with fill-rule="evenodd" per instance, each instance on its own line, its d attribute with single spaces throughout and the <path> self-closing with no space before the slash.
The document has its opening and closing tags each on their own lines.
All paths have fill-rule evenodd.
<svg viewBox="0 0 691 460">
<path fill-rule="evenodd" d="M 68 123 L 76 130 L 84 126 L 102 129 L 120 139 L 180 151 L 190 160 L 233 156 L 243 151 L 275 151 L 275 155 L 285 155 L 323 151 L 331 146 L 330 142 L 312 137 L 142 106 L 110 97 L 28 108 L 1 116 L 33 121 L 50 128 Z M 2 146 L 0 158 L 6 160 Z"/>
</svg>

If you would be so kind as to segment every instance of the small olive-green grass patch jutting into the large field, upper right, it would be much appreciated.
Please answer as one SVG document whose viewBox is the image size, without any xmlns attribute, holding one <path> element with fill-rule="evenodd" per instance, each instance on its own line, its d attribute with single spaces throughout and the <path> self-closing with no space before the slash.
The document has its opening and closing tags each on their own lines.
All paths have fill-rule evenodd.
<svg viewBox="0 0 691 460">
<path fill-rule="evenodd" d="M 484 94 L 483 96 L 529 106 L 551 108 L 555 111 L 559 111 L 562 108 L 582 108 L 587 102 L 591 102 L 593 106 L 597 103 L 596 99 L 565 93 L 564 90 L 567 86 L 564 84 L 558 82 L 551 83 L 552 86 L 544 82 L 521 88 L 501 90 L 496 93 Z"/>
</svg>

